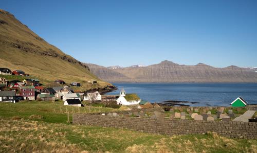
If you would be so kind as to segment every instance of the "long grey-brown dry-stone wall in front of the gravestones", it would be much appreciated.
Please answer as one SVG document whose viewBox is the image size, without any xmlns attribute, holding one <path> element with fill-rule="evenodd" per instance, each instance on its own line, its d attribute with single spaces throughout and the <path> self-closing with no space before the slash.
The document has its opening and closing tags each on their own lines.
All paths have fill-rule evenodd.
<svg viewBox="0 0 257 153">
<path fill-rule="evenodd" d="M 81 125 L 128 128 L 140 132 L 165 135 L 204 134 L 207 132 L 216 132 L 219 135 L 230 138 L 257 139 L 257 123 L 254 122 L 170 120 L 164 118 L 74 114 L 73 123 Z"/>
</svg>

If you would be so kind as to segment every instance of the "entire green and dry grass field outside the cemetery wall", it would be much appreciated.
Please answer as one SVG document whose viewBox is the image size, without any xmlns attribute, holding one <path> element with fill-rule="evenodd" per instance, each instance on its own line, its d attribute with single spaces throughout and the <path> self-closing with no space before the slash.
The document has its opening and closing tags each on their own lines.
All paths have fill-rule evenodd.
<svg viewBox="0 0 257 153">
<path fill-rule="evenodd" d="M 61 101 L 0 103 L 0 152 L 257 152 L 257 140 L 229 139 L 215 133 L 170 137 L 72 125 L 67 123 L 66 108 L 70 120 L 72 112 L 117 110 L 62 104 Z"/>
</svg>

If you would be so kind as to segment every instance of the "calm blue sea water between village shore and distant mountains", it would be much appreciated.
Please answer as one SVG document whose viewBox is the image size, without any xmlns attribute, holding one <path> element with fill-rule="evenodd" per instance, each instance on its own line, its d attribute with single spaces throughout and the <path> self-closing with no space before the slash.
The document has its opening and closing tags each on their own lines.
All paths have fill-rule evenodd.
<svg viewBox="0 0 257 153">
<path fill-rule="evenodd" d="M 167 100 L 199 102 L 191 106 L 229 106 L 238 96 L 249 104 L 257 103 L 257 83 L 113 83 L 119 89 L 108 95 L 136 93 L 150 102 Z"/>
</svg>

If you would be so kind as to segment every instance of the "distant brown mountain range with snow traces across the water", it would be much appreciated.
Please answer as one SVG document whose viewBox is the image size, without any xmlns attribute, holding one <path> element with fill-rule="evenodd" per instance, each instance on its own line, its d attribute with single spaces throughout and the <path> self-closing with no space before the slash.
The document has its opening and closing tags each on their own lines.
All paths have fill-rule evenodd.
<svg viewBox="0 0 257 153">
<path fill-rule="evenodd" d="M 214 68 L 204 63 L 180 65 L 168 60 L 144 67 L 87 65 L 92 73 L 108 82 L 257 82 L 257 68 L 234 65 Z"/>
</svg>

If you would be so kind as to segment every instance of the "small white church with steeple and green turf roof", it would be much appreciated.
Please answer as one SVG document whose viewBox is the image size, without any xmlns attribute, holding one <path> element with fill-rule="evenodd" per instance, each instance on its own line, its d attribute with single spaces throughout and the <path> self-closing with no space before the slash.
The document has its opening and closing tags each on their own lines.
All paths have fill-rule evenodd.
<svg viewBox="0 0 257 153">
<path fill-rule="evenodd" d="M 141 101 L 137 94 L 126 94 L 125 90 L 120 91 L 120 97 L 116 100 L 119 105 L 135 105 Z"/>
</svg>

